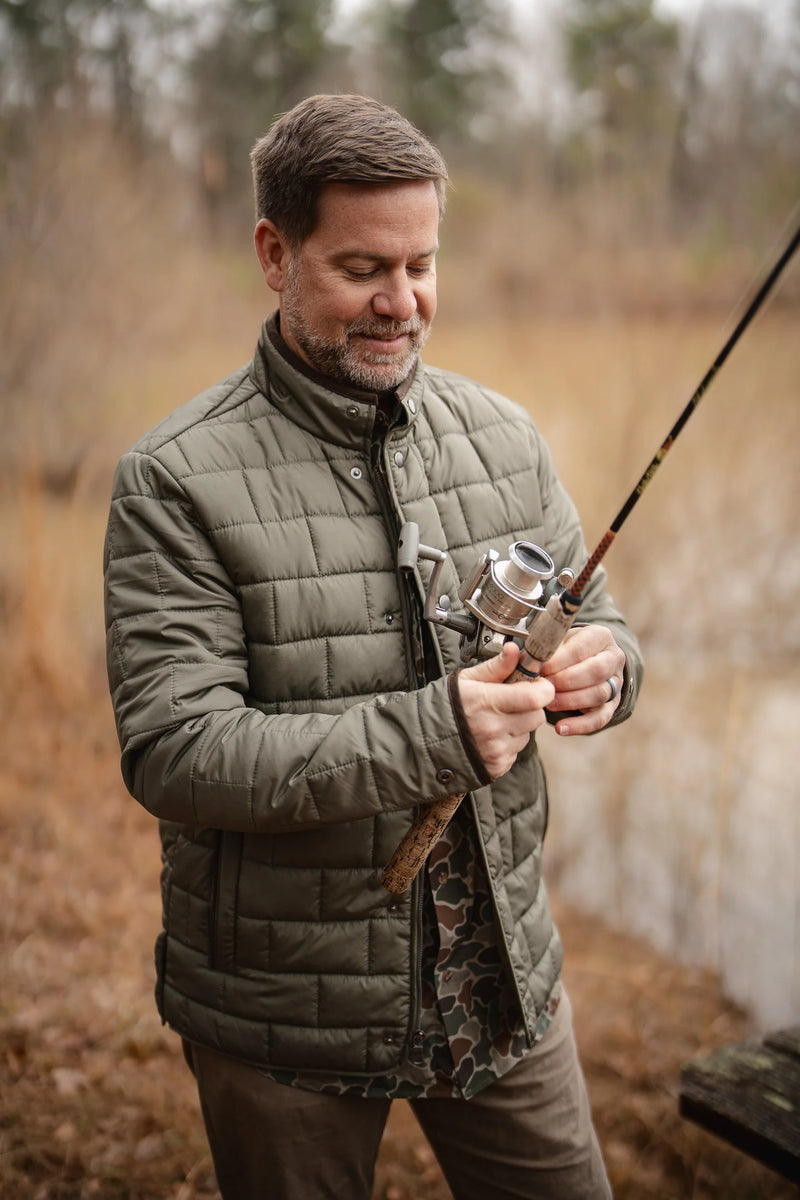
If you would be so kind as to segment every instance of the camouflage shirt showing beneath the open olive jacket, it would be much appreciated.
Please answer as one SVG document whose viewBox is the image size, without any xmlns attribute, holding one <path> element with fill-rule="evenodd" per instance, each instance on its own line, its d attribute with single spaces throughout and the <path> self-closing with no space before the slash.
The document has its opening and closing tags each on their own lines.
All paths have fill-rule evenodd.
<svg viewBox="0 0 800 1200">
<path fill-rule="evenodd" d="M 369 1098 L 475 1096 L 528 1052 L 519 1003 L 503 961 L 492 895 L 467 804 L 428 860 L 422 906 L 421 1004 L 411 1056 L 395 1072 L 363 1076 L 266 1070 L 294 1087 Z M 542 1037 L 557 983 L 535 1030 Z"/>
</svg>

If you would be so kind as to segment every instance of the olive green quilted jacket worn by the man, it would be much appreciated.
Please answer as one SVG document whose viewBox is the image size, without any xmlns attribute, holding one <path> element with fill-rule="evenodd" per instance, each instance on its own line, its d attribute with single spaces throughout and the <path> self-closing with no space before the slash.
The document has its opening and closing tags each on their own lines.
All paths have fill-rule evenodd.
<svg viewBox="0 0 800 1200">
<path fill-rule="evenodd" d="M 403 521 L 475 557 L 530 539 L 585 558 L 575 509 L 524 410 L 419 364 L 402 420 L 330 390 L 265 325 L 253 362 L 121 460 L 106 544 L 108 666 L 132 794 L 161 821 L 162 1016 L 253 1063 L 377 1074 L 416 1025 L 420 895 L 381 869 L 415 805 L 471 792 L 498 923 L 529 1027 L 558 978 L 541 877 L 547 798 L 535 745 L 482 786 L 441 677 L 415 684 Z M 582 619 L 636 641 L 599 571 Z"/>
</svg>

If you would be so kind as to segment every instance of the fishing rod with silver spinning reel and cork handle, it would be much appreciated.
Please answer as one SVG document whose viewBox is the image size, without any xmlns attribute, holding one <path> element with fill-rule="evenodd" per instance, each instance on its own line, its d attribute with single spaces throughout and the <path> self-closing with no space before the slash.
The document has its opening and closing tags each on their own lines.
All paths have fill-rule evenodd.
<svg viewBox="0 0 800 1200">
<path fill-rule="evenodd" d="M 610 526 L 589 556 L 577 578 L 565 568 L 557 574 L 555 564 L 540 546 L 517 541 L 509 548 L 509 559 L 500 560 L 497 551 L 488 551 L 477 560 L 458 589 L 465 612 L 451 612 L 450 601 L 437 601 L 441 569 L 447 559 L 444 551 L 420 542 L 420 530 L 414 522 L 403 526 L 399 538 L 398 566 L 414 571 L 419 559 L 433 562 L 426 592 L 423 614 L 433 624 L 446 625 L 461 634 L 461 658 L 464 664 L 498 654 L 509 638 L 522 640 L 519 662 L 510 683 L 535 679 L 561 644 L 572 626 L 583 594 L 606 557 L 616 534 L 627 521 L 656 470 L 666 458 L 690 416 L 703 400 L 720 368 L 752 322 L 764 300 L 775 287 L 787 263 L 800 244 L 800 226 L 771 271 L 758 288 L 733 332 L 692 392 L 680 416 L 670 428 L 645 472 L 633 487 Z M 434 844 L 447 827 L 465 793 L 444 797 L 420 810 L 410 829 L 392 854 L 383 875 L 387 892 L 405 892 L 416 878 Z"/>
</svg>

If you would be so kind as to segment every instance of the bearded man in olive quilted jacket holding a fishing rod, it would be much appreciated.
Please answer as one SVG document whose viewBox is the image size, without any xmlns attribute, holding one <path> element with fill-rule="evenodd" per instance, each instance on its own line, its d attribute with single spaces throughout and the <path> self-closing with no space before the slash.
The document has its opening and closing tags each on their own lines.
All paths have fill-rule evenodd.
<svg viewBox="0 0 800 1200">
<path fill-rule="evenodd" d="M 458 636 L 422 620 L 427 564 L 397 569 L 404 521 L 447 551 L 455 607 L 491 546 L 585 550 L 525 413 L 420 361 L 445 164 L 357 96 L 303 101 L 252 161 L 278 312 L 122 458 L 106 551 L 124 778 L 162 829 L 158 1006 L 222 1195 L 367 1200 L 405 1097 L 457 1200 L 608 1196 L 533 734 L 624 720 L 636 641 L 600 571 L 542 678 L 504 683 L 515 643 L 458 670 Z M 415 808 L 453 792 L 390 895 Z"/>
</svg>

